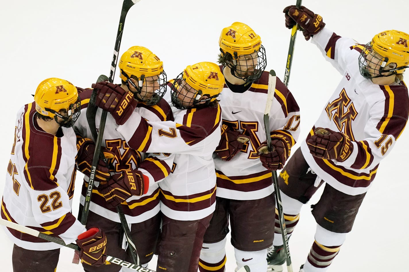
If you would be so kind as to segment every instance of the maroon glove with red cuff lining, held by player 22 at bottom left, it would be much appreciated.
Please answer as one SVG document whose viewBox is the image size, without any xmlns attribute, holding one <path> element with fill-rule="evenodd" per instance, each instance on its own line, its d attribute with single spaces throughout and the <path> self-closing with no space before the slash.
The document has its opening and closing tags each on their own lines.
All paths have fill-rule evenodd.
<svg viewBox="0 0 409 272">
<path fill-rule="evenodd" d="M 81 249 L 79 257 L 81 263 L 99 266 L 105 263 L 106 256 L 106 236 L 102 230 L 97 227 L 91 227 L 86 232 L 78 235 L 75 241 Z"/>
</svg>

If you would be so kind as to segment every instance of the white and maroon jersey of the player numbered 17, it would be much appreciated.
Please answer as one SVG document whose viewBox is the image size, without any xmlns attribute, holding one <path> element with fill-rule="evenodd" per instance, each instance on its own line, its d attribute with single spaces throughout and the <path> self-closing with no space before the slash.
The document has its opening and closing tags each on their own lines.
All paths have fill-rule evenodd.
<svg viewBox="0 0 409 272">
<path fill-rule="evenodd" d="M 220 67 L 222 70 L 223 68 Z M 230 72 L 230 71 L 228 71 Z M 230 161 L 216 154 L 216 195 L 238 200 L 264 198 L 274 192 L 271 171 L 263 167 L 258 147 L 265 139 L 264 109 L 267 101 L 268 72 L 243 92 L 234 92 L 227 84 L 218 97 L 223 109 L 223 123 L 249 136 L 248 143 Z M 299 107 L 291 92 L 277 78 L 274 100 L 270 111 L 270 135 L 284 138 L 293 146 L 299 136 Z"/>
</svg>

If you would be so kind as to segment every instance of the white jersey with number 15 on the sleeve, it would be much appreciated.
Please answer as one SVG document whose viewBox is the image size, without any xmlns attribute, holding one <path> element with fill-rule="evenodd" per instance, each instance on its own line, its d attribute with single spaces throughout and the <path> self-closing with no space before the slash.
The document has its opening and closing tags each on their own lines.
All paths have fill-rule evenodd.
<svg viewBox="0 0 409 272">
<path fill-rule="evenodd" d="M 406 125 L 408 89 L 404 82 L 376 85 L 361 76 L 358 56 L 364 47 L 352 39 L 337 36 L 325 27 L 312 42 L 343 77 L 306 141 L 316 127 L 330 128 L 351 138 L 353 152 L 339 163 L 315 158 L 306 141 L 301 143 L 301 150 L 312 170 L 329 185 L 345 194 L 362 194 Z"/>
</svg>

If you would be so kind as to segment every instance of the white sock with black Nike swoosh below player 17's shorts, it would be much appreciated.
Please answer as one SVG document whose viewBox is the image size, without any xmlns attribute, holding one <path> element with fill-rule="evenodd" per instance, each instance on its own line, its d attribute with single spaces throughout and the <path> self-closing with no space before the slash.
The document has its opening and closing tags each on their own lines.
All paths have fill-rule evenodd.
<svg viewBox="0 0 409 272">
<path fill-rule="evenodd" d="M 267 249 L 258 251 L 243 251 L 234 248 L 234 256 L 238 268 L 247 265 L 250 271 L 267 271 Z"/>
</svg>

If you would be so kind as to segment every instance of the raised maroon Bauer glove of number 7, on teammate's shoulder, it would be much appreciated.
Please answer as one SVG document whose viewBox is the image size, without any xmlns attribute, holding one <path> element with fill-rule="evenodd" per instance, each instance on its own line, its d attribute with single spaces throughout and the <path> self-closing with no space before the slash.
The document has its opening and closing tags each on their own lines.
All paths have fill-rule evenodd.
<svg viewBox="0 0 409 272">
<path fill-rule="evenodd" d="M 92 84 L 92 88 L 99 89 L 95 105 L 112 114 L 118 125 L 124 125 L 138 103 L 133 94 L 106 81 Z"/>
</svg>

